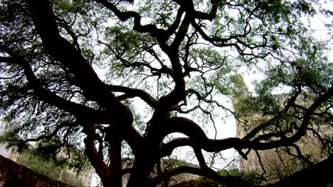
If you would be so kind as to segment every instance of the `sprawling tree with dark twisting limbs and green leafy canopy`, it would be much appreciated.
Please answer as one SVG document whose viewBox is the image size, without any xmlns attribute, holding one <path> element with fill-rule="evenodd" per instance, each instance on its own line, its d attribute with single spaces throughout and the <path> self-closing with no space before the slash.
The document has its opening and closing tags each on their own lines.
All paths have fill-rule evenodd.
<svg viewBox="0 0 333 187">
<path fill-rule="evenodd" d="M 103 186 L 122 186 L 125 173 L 127 186 L 182 173 L 242 186 L 211 169 L 202 150 L 235 149 L 247 158 L 300 150 L 296 143 L 308 135 L 332 157 L 331 43 L 309 29 L 315 16 L 332 18 L 324 1 L 2 0 L 0 11 L 0 107 L 9 124 L 1 140 L 21 151 L 28 142 L 43 155 L 65 149 L 77 165 L 84 152 Z M 241 69 L 262 75 L 255 91 Z M 223 116 L 254 114 L 263 120 L 244 137 L 205 133 Z M 186 137 L 166 141 L 174 132 Z M 151 175 L 184 146 L 199 167 Z M 134 157 L 130 168 L 122 167 L 125 151 Z"/>
</svg>

